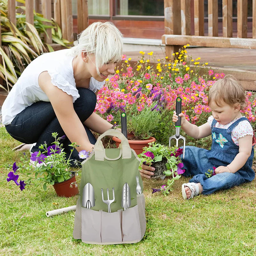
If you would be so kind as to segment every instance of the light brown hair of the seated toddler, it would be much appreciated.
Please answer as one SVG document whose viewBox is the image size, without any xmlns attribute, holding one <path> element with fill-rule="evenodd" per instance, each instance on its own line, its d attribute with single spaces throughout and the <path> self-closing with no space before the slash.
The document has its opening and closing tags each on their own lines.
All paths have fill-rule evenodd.
<svg viewBox="0 0 256 256">
<path fill-rule="evenodd" d="M 244 87 L 232 75 L 227 75 L 212 85 L 208 96 L 208 106 L 212 101 L 219 107 L 223 102 L 230 106 L 240 105 L 241 110 L 247 106 Z"/>
</svg>

